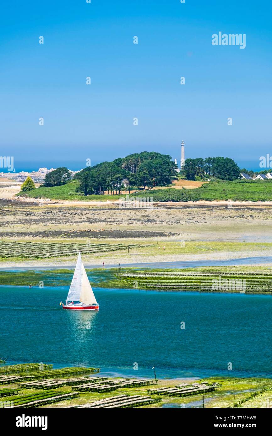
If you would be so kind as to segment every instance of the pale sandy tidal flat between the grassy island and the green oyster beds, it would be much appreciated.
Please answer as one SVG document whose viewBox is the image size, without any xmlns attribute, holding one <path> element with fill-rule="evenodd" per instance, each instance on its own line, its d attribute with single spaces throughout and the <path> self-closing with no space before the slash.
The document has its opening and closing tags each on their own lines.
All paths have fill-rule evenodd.
<svg viewBox="0 0 272 436">
<path fill-rule="evenodd" d="M 3 190 L 2 190 L 3 191 Z M 155 204 L 120 209 L 118 204 L 31 204 L 0 199 L 3 241 L 155 243 L 130 252 L 84 255 L 86 265 L 138 264 L 272 255 L 272 207 L 215 204 Z M 72 267 L 75 256 L 52 259 L 0 258 L 0 267 Z M 271 262 L 268 262 L 271 264 Z"/>
</svg>

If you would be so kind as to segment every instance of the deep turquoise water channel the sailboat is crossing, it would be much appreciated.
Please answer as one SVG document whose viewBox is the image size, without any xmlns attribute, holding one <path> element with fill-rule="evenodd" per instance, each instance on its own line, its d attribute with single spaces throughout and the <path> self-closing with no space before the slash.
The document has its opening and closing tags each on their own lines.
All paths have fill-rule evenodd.
<svg viewBox="0 0 272 436">
<path fill-rule="evenodd" d="M 68 286 L 0 286 L 0 357 L 134 376 L 272 372 L 272 296 L 94 291 L 98 313 L 62 310 Z"/>
</svg>

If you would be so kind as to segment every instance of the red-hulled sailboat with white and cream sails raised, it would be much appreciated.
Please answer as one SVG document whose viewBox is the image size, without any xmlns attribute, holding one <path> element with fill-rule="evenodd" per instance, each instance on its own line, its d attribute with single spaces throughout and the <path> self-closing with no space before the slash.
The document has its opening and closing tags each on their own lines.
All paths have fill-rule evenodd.
<svg viewBox="0 0 272 436">
<path fill-rule="evenodd" d="M 67 299 L 65 304 L 62 304 L 62 309 L 99 310 L 99 305 L 87 277 L 80 252 Z"/>
</svg>

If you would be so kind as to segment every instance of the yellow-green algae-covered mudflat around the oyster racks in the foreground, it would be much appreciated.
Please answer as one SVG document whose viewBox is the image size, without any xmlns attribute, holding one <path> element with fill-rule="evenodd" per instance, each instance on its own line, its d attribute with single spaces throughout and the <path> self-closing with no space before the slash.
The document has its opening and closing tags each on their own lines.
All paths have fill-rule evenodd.
<svg viewBox="0 0 272 436">
<path fill-rule="evenodd" d="M 111 378 L 110 380 L 120 380 Z M 172 388 L 179 384 L 208 382 L 220 383 L 213 392 L 204 392 L 190 396 L 169 396 L 148 394 L 148 388 Z M 5 389 L 16 389 L 17 384 L 4 385 Z M 0 389 L 2 387 L 0 386 Z M 52 391 L 52 395 L 62 395 L 71 392 L 69 386 L 60 387 Z M 19 395 L 5 396 L 5 401 L 16 401 L 23 406 L 29 401 L 31 395 L 44 395 L 43 389 L 24 389 Z M 50 392 L 48 392 L 48 396 Z M 151 405 L 143 405 L 142 408 L 271 408 L 272 407 L 272 380 L 270 378 L 175 378 L 158 379 L 157 384 L 138 388 L 120 388 L 114 392 L 80 392 L 79 398 L 69 399 L 62 402 L 48 404 L 42 408 L 65 408 L 78 405 L 88 405 L 101 399 L 111 398 L 115 395 L 148 395 L 156 402 Z"/>
</svg>

